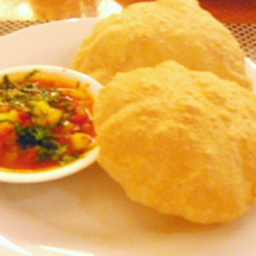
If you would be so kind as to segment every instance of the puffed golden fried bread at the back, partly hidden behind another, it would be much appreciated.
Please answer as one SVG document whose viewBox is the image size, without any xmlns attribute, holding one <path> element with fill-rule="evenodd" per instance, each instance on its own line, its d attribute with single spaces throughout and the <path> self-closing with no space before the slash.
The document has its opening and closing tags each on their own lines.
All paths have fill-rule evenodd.
<svg viewBox="0 0 256 256">
<path fill-rule="evenodd" d="M 167 60 L 251 88 L 236 39 L 195 0 L 135 3 L 100 20 L 73 67 L 107 84 L 115 73 Z"/>
</svg>

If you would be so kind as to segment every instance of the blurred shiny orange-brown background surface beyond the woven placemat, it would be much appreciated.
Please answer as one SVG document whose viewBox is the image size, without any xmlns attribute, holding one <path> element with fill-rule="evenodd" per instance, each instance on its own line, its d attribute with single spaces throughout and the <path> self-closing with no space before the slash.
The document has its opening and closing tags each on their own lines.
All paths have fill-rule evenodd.
<svg viewBox="0 0 256 256">
<path fill-rule="evenodd" d="M 119 13 L 131 3 L 143 1 L 145 0 L 0 0 L 0 20 L 107 17 L 112 13 Z M 256 0 L 199 0 L 199 3 L 224 23 L 256 24 Z"/>
</svg>

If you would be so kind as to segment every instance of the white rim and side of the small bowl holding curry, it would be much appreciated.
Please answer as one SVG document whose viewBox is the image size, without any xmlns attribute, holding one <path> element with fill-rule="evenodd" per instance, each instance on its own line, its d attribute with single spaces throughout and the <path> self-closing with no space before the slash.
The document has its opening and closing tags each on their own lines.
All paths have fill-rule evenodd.
<svg viewBox="0 0 256 256">
<path fill-rule="evenodd" d="M 88 90 L 90 90 L 90 92 L 94 96 L 97 96 L 99 91 L 102 89 L 102 84 L 98 83 L 95 79 L 90 78 L 90 76 L 84 73 L 79 73 L 66 67 L 56 67 L 48 65 L 11 67 L 8 69 L 0 70 L 0 78 L 2 78 L 5 74 L 27 73 L 35 69 L 43 71 L 44 73 L 55 73 L 67 79 L 75 79 L 80 82 L 80 84 L 89 83 L 90 86 Z M 96 161 L 98 151 L 99 148 L 96 146 L 87 151 L 83 157 L 79 158 L 79 160 L 75 160 L 65 166 L 58 166 L 46 170 L 42 169 L 42 171 L 37 170 L 36 172 L 7 172 L 0 167 L 0 182 L 42 183 L 50 180 L 59 179 L 61 177 L 67 177 L 68 175 L 79 172 L 93 164 Z"/>
</svg>

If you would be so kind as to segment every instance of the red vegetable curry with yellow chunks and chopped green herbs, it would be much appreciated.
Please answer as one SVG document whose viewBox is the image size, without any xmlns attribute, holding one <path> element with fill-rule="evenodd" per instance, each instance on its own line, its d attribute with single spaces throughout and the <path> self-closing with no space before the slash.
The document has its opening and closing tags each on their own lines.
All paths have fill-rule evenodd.
<svg viewBox="0 0 256 256">
<path fill-rule="evenodd" d="M 60 166 L 93 147 L 94 97 L 86 84 L 39 71 L 13 77 L 0 83 L 1 167 Z"/>
</svg>

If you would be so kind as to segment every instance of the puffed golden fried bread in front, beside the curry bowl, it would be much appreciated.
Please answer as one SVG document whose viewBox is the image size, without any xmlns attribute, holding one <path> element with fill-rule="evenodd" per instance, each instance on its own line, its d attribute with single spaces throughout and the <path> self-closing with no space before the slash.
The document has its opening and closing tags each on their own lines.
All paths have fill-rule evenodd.
<svg viewBox="0 0 256 256">
<path fill-rule="evenodd" d="M 253 204 L 256 96 L 236 82 L 175 61 L 138 68 L 102 90 L 94 119 L 98 161 L 133 201 L 201 224 Z"/>
</svg>

